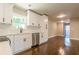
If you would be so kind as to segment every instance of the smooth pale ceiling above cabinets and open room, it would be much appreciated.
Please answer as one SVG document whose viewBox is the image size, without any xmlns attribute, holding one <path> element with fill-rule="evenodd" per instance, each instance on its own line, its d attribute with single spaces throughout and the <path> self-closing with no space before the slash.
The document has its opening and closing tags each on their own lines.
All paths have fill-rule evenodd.
<svg viewBox="0 0 79 59">
<path fill-rule="evenodd" d="M 68 18 L 79 17 L 79 3 L 27 3 L 19 5 L 25 9 L 29 5 L 29 9 L 53 18 L 56 18 L 59 14 L 66 14 Z"/>
</svg>

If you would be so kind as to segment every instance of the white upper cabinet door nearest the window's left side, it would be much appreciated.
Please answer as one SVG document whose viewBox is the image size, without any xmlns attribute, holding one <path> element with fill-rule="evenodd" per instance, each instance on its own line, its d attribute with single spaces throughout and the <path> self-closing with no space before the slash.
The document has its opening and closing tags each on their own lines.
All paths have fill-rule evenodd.
<svg viewBox="0 0 79 59">
<path fill-rule="evenodd" d="M 11 24 L 12 22 L 13 4 L 4 4 L 4 22 Z"/>
</svg>

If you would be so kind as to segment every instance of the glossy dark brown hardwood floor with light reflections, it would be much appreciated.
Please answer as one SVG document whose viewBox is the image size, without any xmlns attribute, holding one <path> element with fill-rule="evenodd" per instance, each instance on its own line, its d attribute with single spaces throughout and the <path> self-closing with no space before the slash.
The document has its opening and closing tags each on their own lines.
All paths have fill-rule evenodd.
<svg viewBox="0 0 79 59">
<path fill-rule="evenodd" d="M 79 40 L 71 40 L 70 47 L 67 47 L 63 37 L 54 37 L 17 55 L 79 55 Z"/>
</svg>

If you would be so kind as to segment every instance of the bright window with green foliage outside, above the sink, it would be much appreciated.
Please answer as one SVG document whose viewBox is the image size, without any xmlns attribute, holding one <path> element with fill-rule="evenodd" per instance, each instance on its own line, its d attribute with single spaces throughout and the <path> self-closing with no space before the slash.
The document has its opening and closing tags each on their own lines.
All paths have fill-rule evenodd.
<svg viewBox="0 0 79 59">
<path fill-rule="evenodd" d="M 14 13 L 13 15 L 13 26 L 16 28 L 22 28 L 25 29 L 26 27 L 26 16 Z"/>
</svg>

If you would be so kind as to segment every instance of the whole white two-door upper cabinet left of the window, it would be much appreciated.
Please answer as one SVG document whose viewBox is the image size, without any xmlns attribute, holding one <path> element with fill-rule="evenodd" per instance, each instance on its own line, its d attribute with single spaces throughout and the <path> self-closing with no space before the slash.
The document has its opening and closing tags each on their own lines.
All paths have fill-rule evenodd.
<svg viewBox="0 0 79 59">
<path fill-rule="evenodd" d="M 11 24 L 13 4 L 0 3 L 0 23 Z"/>
</svg>

